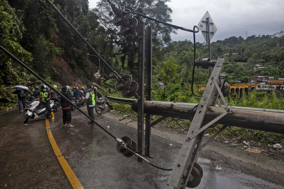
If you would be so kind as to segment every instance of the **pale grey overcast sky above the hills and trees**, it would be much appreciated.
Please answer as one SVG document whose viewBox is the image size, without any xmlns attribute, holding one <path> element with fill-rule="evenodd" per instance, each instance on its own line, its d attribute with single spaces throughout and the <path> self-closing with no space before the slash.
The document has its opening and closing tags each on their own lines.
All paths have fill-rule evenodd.
<svg viewBox="0 0 284 189">
<path fill-rule="evenodd" d="M 96 7 L 99 0 L 89 0 L 89 8 Z M 272 35 L 284 30 L 284 0 L 172 0 L 167 5 L 172 9 L 172 24 L 193 29 L 208 11 L 217 32 L 211 41 L 231 36 L 246 38 L 251 35 Z M 124 7 L 127 8 L 127 7 Z M 193 41 L 193 34 L 178 30 L 173 41 Z M 201 32 L 196 41 L 205 39 Z"/>
</svg>

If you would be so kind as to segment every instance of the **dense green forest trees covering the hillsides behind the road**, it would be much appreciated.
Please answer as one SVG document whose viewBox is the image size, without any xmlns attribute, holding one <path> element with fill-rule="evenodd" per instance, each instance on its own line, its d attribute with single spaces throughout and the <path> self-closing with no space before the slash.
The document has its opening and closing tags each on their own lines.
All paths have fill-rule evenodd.
<svg viewBox="0 0 284 189">
<path fill-rule="evenodd" d="M 171 22 L 172 10 L 167 0 L 122 0 L 120 5 Z M 121 35 L 112 24 L 114 14 L 105 0 L 90 10 L 88 0 L 54 0 L 52 3 L 86 38 L 94 49 L 116 71 L 127 70 L 137 79 L 138 43 L 132 35 Z M 135 6 L 134 6 L 135 5 Z M 133 15 L 138 21 L 141 17 Z M 166 90 L 159 100 L 171 100 L 181 89 L 191 97 L 193 43 L 190 40 L 171 41 L 176 30 L 145 20 L 153 26 L 153 83 L 160 81 Z M 197 33 L 196 35 L 201 35 Z M 249 77 L 268 75 L 284 78 L 284 32 L 275 35 L 252 35 L 246 39 L 230 37 L 211 44 L 212 59 L 225 58 L 228 82 L 248 82 Z M 0 44 L 50 83 L 58 86 L 95 81 L 99 60 L 70 27 L 54 12 L 46 0 L 0 1 Z M 238 56 L 233 56 L 237 53 Z M 224 55 L 226 54 L 226 55 Z M 196 58 L 207 58 L 207 44 L 196 43 Z M 17 98 L 14 85 L 33 88 L 41 83 L 0 52 L 1 109 L 13 107 Z M 254 72 L 255 64 L 267 69 Z M 102 65 L 101 65 L 102 66 Z M 167 68 L 171 69 L 167 69 Z M 109 74 L 107 69 L 104 70 Z M 196 70 L 195 84 L 208 81 L 208 70 Z M 156 93 L 159 93 L 156 91 Z M 158 95 L 158 94 L 157 94 Z"/>
</svg>

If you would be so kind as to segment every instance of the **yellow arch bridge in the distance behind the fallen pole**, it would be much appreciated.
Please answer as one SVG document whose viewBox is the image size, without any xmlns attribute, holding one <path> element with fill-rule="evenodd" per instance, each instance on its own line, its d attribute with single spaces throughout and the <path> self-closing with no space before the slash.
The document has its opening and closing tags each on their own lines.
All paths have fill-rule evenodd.
<svg viewBox="0 0 284 189">
<path fill-rule="evenodd" d="M 234 84 L 230 85 L 230 92 L 233 95 L 236 95 L 238 98 L 243 97 L 243 91 L 246 93 L 248 96 L 249 93 L 256 88 L 256 86 L 259 84 L 251 84 L 251 83 L 240 83 L 240 84 Z M 205 85 L 196 85 L 198 90 L 203 90 L 205 89 Z"/>
</svg>

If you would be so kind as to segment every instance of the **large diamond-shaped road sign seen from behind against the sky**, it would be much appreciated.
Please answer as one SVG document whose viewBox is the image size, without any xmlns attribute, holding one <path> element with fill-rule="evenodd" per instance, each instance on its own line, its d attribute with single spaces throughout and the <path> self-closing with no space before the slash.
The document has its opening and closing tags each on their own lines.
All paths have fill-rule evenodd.
<svg viewBox="0 0 284 189">
<path fill-rule="evenodd" d="M 198 26 L 199 29 L 202 33 L 202 35 L 204 36 L 206 42 L 208 43 L 208 27 L 207 27 L 207 18 L 209 17 L 209 40 L 212 39 L 213 35 L 216 33 L 217 31 L 217 27 L 215 26 L 212 18 L 210 17 L 209 12 L 207 11 L 204 16 L 202 17 L 202 19 L 200 20 Z"/>
</svg>

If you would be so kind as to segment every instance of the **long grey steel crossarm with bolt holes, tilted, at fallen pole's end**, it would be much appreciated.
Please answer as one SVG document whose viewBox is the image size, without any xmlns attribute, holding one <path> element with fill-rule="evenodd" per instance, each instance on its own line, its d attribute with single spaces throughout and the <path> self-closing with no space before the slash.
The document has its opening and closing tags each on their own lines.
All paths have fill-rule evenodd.
<svg viewBox="0 0 284 189">
<path fill-rule="evenodd" d="M 220 84 L 220 86 L 224 82 L 223 79 L 222 82 L 220 79 L 224 61 L 224 58 L 219 58 L 217 60 L 210 76 L 211 78 L 213 77 L 213 81 Z M 194 160 L 198 156 L 198 147 L 202 144 L 203 133 L 201 132 L 198 136 L 194 137 L 194 139 L 190 141 L 188 141 L 188 137 L 196 133 L 201 128 L 207 108 L 209 105 L 214 105 L 216 103 L 217 96 L 217 88 L 213 84 L 212 80 L 209 80 L 191 122 L 191 126 L 186 135 L 185 141 L 183 142 L 183 146 L 181 147 L 177 161 L 173 167 L 171 176 L 167 182 L 168 185 L 179 189 L 186 187 L 190 173 L 193 169 Z M 204 131 L 206 131 L 206 129 Z"/>
</svg>

